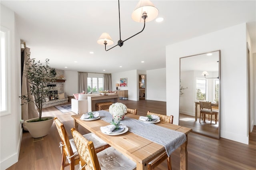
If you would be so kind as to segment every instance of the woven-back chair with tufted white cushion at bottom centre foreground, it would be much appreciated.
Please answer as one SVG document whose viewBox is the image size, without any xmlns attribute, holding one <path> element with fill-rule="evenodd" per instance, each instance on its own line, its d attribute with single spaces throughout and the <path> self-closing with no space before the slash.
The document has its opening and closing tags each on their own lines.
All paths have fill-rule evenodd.
<svg viewBox="0 0 256 170">
<path fill-rule="evenodd" d="M 81 170 L 134 170 L 136 163 L 115 150 L 112 146 L 96 154 L 94 144 L 82 134 L 71 129 L 71 133 L 80 156 Z"/>
</svg>

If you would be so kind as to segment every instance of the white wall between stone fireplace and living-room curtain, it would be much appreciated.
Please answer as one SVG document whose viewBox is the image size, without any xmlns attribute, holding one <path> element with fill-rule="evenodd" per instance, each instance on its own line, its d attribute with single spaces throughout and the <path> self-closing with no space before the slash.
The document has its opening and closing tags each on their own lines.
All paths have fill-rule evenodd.
<svg viewBox="0 0 256 170">
<path fill-rule="evenodd" d="M 64 71 L 64 76 L 66 79 L 64 83 L 64 92 L 68 96 L 72 96 L 74 93 L 78 93 L 78 72 Z"/>
</svg>

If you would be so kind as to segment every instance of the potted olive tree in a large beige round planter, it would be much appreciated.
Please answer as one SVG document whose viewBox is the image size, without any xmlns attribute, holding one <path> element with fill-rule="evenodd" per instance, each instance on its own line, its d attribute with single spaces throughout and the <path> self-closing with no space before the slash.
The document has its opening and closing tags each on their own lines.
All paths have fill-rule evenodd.
<svg viewBox="0 0 256 170">
<path fill-rule="evenodd" d="M 49 59 L 46 59 L 45 63 L 42 64 L 40 61 L 36 62 L 35 59 L 30 59 L 30 56 L 28 56 L 25 64 L 26 70 L 24 71 L 24 75 L 30 83 L 30 91 L 20 98 L 24 100 L 24 103 L 34 103 L 37 107 L 39 117 L 28 119 L 24 123 L 32 137 L 39 138 L 48 134 L 54 120 L 54 117 L 42 117 L 42 107 L 46 101 L 46 97 L 49 96 L 49 87 L 47 87 L 47 84 L 54 82 L 55 78 L 50 73 Z M 28 94 L 33 95 L 34 99 L 29 98 Z"/>
</svg>

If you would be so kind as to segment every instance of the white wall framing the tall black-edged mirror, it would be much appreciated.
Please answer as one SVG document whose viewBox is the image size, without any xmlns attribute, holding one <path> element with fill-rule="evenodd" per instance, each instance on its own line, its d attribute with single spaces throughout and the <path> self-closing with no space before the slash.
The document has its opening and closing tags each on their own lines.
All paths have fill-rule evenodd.
<svg viewBox="0 0 256 170">
<path fill-rule="evenodd" d="M 248 144 L 245 23 L 166 46 L 167 114 L 178 124 L 179 58 L 219 49 L 220 136 Z"/>
</svg>

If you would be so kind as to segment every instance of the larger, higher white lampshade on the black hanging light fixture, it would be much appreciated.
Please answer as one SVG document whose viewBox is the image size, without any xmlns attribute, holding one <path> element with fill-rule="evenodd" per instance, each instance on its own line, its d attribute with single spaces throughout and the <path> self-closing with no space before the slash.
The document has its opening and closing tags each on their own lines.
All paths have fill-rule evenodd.
<svg viewBox="0 0 256 170">
<path fill-rule="evenodd" d="M 154 20 L 158 16 L 158 9 L 150 0 L 140 0 L 132 12 L 132 19 L 136 22 L 144 22 L 141 18 L 143 12 L 147 13 L 146 22 Z"/>
</svg>

